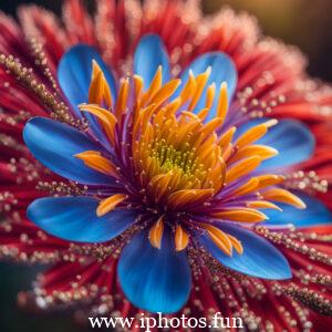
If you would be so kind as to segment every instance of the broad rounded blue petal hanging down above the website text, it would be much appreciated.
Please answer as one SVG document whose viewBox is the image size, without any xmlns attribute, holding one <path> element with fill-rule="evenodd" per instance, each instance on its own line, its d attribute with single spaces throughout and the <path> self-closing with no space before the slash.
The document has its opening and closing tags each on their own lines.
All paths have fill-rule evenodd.
<svg viewBox="0 0 332 332">
<path fill-rule="evenodd" d="M 170 231 L 164 231 L 160 250 L 151 246 L 148 231 L 124 248 L 117 273 L 125 295 L 149 312 L 177 312 L 187 302 L 191 277 L 185 251 L 177 252 Z"/>
</svg>

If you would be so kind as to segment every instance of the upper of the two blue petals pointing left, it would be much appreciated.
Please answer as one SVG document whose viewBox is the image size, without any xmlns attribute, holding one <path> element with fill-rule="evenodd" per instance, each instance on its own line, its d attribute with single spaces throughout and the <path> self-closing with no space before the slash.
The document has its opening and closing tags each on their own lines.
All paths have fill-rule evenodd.
<svg viewBox="0 0 332 332">
<path fill-rule="evenodd" d="M 113 184 L 112 177 L 95 172 L 74 157 L 84 151 L 100 151 L 77 129 L 45 117 L 31 118 L 23 138 L 33 156 L 54 173 L 86 185 Z"/>
</svg>

